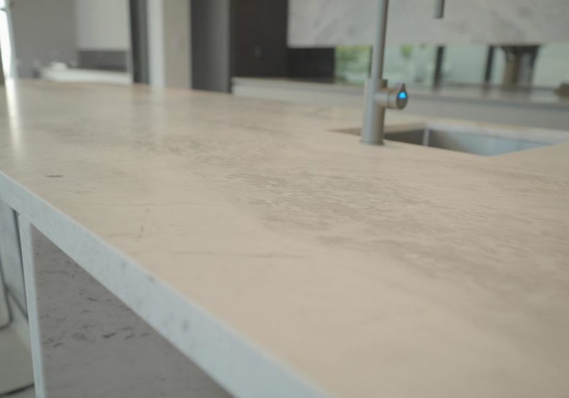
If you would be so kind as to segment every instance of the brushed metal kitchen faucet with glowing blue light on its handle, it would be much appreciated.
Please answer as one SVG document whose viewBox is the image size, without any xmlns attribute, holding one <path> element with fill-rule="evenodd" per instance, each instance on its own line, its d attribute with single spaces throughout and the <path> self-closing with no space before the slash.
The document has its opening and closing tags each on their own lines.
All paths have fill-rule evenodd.
<svg viewBox="0 0 569 398">
<path fill-rule="evenodd" d="M 387 32 L 387 8 L 389 0 L 380 0 L 379 18 L 375 31 L 375 42 L 371 59 L 371 76 L 366 82 L 364 127 L 362 142 L 371 145 L 383 145 L 385 110 L 402 109 L 407 105 L 409 95 L 403 83 L 387 86 L 383 79 L 383 59 L 385 55 L 385 35 Z M 436 0 L 435 18 L 442 18 L 445 0 Z"/>
</svg>

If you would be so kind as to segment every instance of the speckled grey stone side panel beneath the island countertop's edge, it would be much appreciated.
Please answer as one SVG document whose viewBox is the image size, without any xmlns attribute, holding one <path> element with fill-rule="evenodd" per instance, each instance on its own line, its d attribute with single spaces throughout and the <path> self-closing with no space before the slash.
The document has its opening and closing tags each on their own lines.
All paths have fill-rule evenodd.
<svg viewBox="0 0 569 398">
<path fill-rule="evenodd" d="M 37 231 L 32 240 L 39 397 L 230 397 L 53 243 Z"/>
</svg>

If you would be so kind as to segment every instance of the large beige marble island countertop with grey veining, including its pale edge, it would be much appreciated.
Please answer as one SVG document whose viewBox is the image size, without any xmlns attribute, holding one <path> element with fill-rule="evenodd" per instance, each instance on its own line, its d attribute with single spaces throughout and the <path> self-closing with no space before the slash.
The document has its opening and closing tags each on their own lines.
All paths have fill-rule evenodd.
<svg viewBox="0 0 569 398">
<path fill-rule="evenodd" d="M 568 395 L 569 143 L 365 146 L 331 131 L 356 109 L 137 86 L 0 101 L 0 199 L 235 395 Z"/>
</svg>

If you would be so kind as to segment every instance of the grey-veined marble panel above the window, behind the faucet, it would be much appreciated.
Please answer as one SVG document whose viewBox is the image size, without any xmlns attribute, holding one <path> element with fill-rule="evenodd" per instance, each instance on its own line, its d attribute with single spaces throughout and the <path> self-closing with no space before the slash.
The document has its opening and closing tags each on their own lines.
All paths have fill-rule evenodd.
<svg viewBox="0 0 569 398">
<path fill-rule="evenodd" d="M 392 0 L 387 44 L 536 44 L 569 40 L 566 0 L 447 0 L 433 19 L 434 0 Z M 288 44 L 321 47 L 371 44 L 377 0 L 290 0 Z"/>
</svg>

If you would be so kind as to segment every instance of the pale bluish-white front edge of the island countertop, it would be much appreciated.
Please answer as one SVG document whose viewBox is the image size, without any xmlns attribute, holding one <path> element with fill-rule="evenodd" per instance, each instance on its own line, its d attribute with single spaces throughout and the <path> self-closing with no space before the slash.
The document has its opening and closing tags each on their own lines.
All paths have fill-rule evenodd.
<svg viewBox="0 0 569 398">
<path fill-rule="evenodd" d="M 234 396 L 327 396 L 2 171 L 0 200 Z"/>
</svg>

